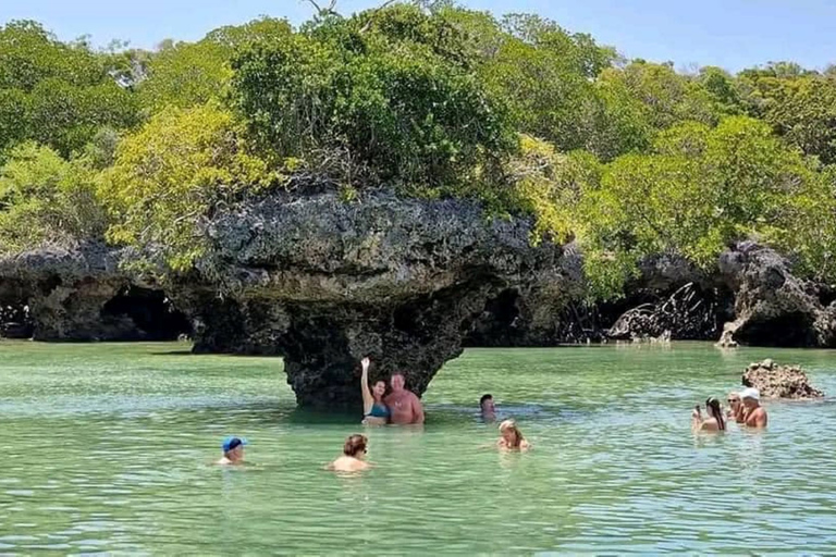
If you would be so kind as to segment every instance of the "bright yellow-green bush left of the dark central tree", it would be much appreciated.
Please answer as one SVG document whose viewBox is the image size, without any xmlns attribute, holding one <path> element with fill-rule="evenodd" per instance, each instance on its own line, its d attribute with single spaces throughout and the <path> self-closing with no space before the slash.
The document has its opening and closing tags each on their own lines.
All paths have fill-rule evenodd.
<svg viewBox="0 0 836 557">
<path fill-rule="evenodd" d="M 151 247 L 186 270 L 202 251 L 201 220 L 272 178 L 248 154 L 231 113 L 212 103 L 164 109 L 122 139 L 102 178 L 100 196 L 113 216 L 108 238 Z"/>
</svg>

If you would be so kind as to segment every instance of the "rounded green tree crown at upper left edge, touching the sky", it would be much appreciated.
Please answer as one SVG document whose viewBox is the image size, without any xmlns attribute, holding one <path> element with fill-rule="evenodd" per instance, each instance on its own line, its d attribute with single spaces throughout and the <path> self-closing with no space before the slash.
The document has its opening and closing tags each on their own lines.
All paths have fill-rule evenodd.
<svg viewBox="0 0 836 557">
<path fill-rule="evenodd" d="M 103 57 L 62 44 L 34 22 L 0 27 L 0 151 L 36 140 L 66 157 L 100 127 L 136 121 L 133 97 L 108 74 Z"/>
</svg>

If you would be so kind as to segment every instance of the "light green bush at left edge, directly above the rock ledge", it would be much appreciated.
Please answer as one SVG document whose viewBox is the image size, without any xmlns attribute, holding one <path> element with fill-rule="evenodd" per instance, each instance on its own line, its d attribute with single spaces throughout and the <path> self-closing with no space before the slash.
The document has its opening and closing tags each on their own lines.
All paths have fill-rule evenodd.
<svg viewBox="0 0 836 557">
<path fill-rule="evenodd" d="M 0 252 L 101 238 L 107 226 L 96 199 L 96 171 L 34 143 L 11 150 L 0 168 Z"/>
</svg>

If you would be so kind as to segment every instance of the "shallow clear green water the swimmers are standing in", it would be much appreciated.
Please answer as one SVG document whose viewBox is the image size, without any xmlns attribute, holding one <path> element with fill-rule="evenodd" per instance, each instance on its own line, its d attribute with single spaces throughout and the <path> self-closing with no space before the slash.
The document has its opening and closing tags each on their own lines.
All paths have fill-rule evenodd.
<svg viewBox="0 0 836 557">
<path fill-rule="evenodd" d="M 321 470 L 354 417 L 295 409 L 281 360 L 182 344 L 0 343 L 0 554 L 836 552 L 836 404 L 692 435 L 693 404 L 772 357 L 836 393 L 836 352 L 702 344 L 474 349 L 377 468 Z M 482 393 L 534 445 L 501 455 Z M 210 466 L 246 436 L 245 469 Z"/>
</svg>

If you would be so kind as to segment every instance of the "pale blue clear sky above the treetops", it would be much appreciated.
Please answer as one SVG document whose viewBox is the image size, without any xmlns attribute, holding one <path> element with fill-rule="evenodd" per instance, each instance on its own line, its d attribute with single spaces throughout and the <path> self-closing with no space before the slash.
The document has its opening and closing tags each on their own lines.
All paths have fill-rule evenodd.
<svg viewBox="0 0 836 557">
<path fill-rule="evenodd" d="M 321 0 L 328 3 L 328 0 Z M 381 3 L 340 0 L 348 14 Z M 627 58 L 672 61 L 679 69 L 717 65 L 736 72 L 789 60 L 811 69 L 836 62 L 836 0 L 464 0 L 495 14 L 533 12 L 591 34 Z M 89 35 L 153 48 L 162 39 L 197 40 L 222 25 L 259 15 L 299 23 L 304 0 L 0 0 L 0 23 L 36 20 L 69 40 Z"/>
</svg>

